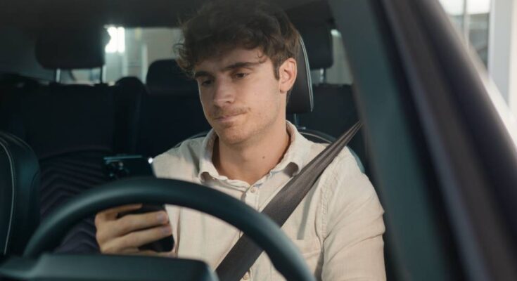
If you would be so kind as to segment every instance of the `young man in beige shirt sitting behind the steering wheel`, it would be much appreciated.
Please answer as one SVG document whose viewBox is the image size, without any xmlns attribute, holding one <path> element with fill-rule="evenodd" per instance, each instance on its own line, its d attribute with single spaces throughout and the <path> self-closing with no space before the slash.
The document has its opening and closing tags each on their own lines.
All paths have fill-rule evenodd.
<svg viewBox="0 0 517 281">
<path fill-rule="evenodd" d="M 184 24 L 179 65 L 198 81 L 212 131 L 155 158 L 155 174 L 215 188 L 261 211 L 324 145 L 286 122 L 297 74 L 300 36 L 286 15 L 258 1 L 217 1 Z M 166 129 L 166 128 L 164 128 Z M 240 237 L 235 228 L 198 211 L 96 216 L 103 253 L 179 256 L 216 268 Z M 324 171 L 283 226 L 321 280 L 385 280 L 383 209 L 368 178 L 345 149 Z M 174 235 L 172 253 L 139 246 Z M 267 256 L 244 279 L 281 280 Z"/>
</svg>

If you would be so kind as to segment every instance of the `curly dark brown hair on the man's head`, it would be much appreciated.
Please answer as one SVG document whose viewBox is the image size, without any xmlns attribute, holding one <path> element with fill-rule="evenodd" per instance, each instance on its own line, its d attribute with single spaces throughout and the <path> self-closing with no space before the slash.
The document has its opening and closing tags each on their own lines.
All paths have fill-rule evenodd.
<svg viewBox="0 0 517 281">
<path fill-rule="evenodd" d="M 255 0 L 215 0 L 182 24 L 184 41 L 174 46 L 177 62 L 193 77 L 197 63 L 234 48 L 261 48 L 272 60 L 274 75 L 288 58 L 298 58 L 300 34 L 286 13 Z"/>
</svg>

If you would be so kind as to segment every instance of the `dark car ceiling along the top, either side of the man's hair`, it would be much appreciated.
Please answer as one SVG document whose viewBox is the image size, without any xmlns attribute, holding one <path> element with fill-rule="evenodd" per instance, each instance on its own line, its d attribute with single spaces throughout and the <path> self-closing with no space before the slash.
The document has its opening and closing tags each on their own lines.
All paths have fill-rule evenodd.
<svg viewBox="0 0 517 281">
<path fill-rule="evenodd" d="M 267 0 L 281 6 L 293 22 L 332 23 L 324 0 Z M 0 25 L 46 29 L 90 25 L 175 26 L 205 0 L 28 0 L 1 1 Z"/>
</svg>

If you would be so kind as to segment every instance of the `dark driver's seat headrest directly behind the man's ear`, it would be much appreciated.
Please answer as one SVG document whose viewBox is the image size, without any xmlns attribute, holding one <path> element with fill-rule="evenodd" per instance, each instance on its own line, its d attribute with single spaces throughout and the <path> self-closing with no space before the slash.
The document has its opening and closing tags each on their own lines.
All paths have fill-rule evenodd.
<svg viewBox="0 0 517 281">
<path fill-rule="evenodd" d="M 287 101 L 287 114 L 300 114 L 312 112 L 314 102 L 312 98 L 312 81 L 309 69 L 309 61 L 307 60 L 307 51 L 305 44 L 300 39 L 300 55 L 298 55 L 298 74 L 296 81 L 291 90 L 291 96 Z"/>
</svg>

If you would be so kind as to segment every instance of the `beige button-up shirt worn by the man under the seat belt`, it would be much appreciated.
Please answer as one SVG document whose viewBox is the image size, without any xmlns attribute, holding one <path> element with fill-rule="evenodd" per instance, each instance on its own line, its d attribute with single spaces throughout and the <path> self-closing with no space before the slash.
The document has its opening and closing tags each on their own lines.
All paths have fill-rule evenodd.
<svg viewBox="0 0 517 281">
<path fill-rule="evenodd" d="M 160 178 L 190 181 L 235 197 L 262 211 L 292 176 L 310 162 L 324 145 L 304 138 L 287 124 L 291 144 L 269 174 L 250 185 L 219 175 L 212 164 L 217 134 L 185 141 L 155 157 Z M 212 268 L 222 261 L 241 232 L 218 218 L 192 209 L 167 205 L 180 258 L 199 259 Z M 282 230 L 300 249 L 318 280 L 385 280 L 383 208 L 369 179 L 345 148 L 327 167 Z M 262 254 L 242 280 L 284 280 Z"/>
</svg>

